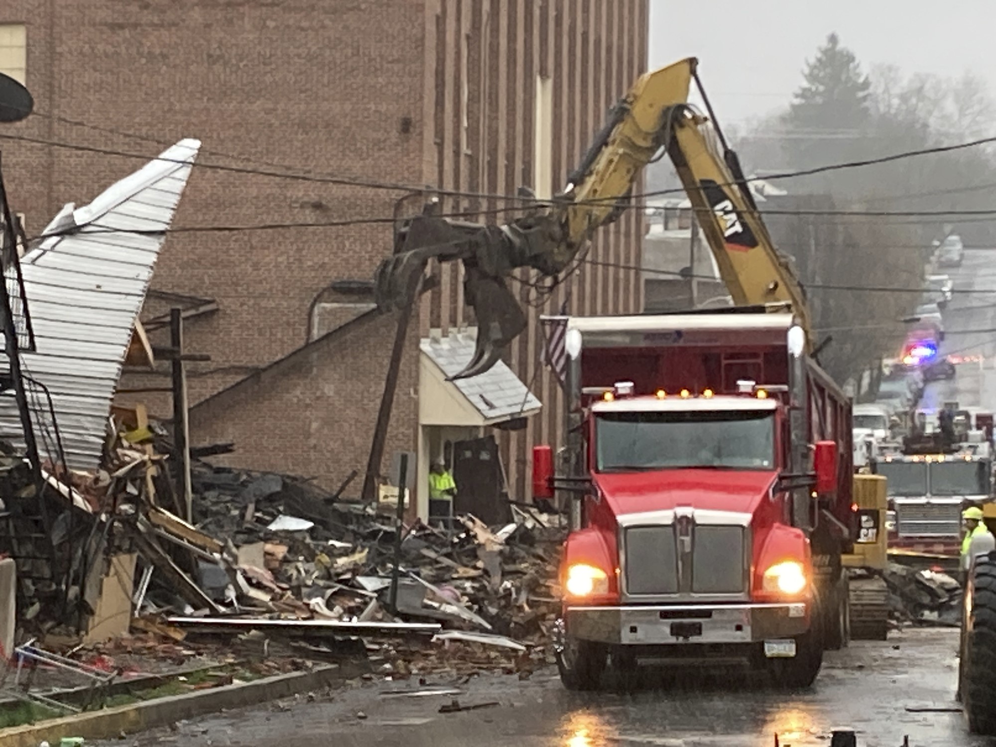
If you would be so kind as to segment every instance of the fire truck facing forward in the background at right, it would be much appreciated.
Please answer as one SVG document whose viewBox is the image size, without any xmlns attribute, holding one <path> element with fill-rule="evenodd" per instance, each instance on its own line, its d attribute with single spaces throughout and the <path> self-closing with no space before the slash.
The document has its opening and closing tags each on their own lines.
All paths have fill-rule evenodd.
<svg viewBox="0 0 996 747">
<path fill-rule="evenodd" d="M 888 546 L 957 558 L 961 512 L 983 506 L 993 491 L 992 415 L 949 402 L 949 435 L 938 413 L 919 410 L 901 441 L 877 444 L 871 463 L 888 483 Z"/>
</svg>

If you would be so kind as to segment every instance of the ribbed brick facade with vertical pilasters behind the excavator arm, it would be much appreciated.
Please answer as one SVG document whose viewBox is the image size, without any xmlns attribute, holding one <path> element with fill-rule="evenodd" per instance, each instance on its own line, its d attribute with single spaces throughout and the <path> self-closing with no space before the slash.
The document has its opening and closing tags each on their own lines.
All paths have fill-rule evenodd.
<svg viewBox="0 0 996 747">
<path fill-rule="evenodd" d="M 646 70 L 646 0 L 432 0 L 426 27 L 424 181 L 451 189 L 514 194 L 533 186 L 537 77 L 550 79 L 553 98 L 553 190 L 564 187 L 610 107 Z M 465 93 L 464 93 L 465 92 Z M 461 102 L 465 105 L 461 106 Z M 642 179 L 634 191 L 641 191 Z M 453 211 L 483 208 L 488 220 L 507 201 L 448 199 Z M 514 217 L 498 212 L 497 219 Z M 507 363 L 543 402 L 524 431 L 500 433 L 502 458 L 513 493 L 528 496 L 531 446 L 562 439 L 564 397 L 542 367 L 538 318 L 559 313 L 638 313 L 638 273 L 608 265 L 638 266 L 642 216 L 629 210 L 599 232 L 592 263 L 545 302 L 535 297 L 526 334 L 512 345 Z M 520 273 L 520 278 L 525 278 Z M 422 311 L 423 329 L 472 322 L 462 307 L 460 268 L 442 268 L 442 283 Z M 521 283 L 513 282 L 517 293 Z M 540 299 L 542 301 L 542 299 Z"/>
</svg>

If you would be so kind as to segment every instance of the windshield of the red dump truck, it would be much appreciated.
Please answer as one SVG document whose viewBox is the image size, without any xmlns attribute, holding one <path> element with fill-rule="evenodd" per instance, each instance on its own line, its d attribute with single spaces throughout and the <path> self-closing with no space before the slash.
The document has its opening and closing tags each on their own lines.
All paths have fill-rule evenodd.
<svg viewBox="0 0 996 747">
<path fill-rule="evenodd" d="M 596 423 L 596 469 L 773 469 L 771 411 L 607 412 Z"/>
</svg>

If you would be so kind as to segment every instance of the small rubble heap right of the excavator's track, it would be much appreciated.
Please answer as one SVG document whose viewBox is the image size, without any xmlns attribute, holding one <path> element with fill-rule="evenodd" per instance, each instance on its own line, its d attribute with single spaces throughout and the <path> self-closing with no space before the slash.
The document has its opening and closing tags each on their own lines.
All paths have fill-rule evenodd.
<svg viewBox="0 0 996 747">
<path fill-rule="evenodd" d="M 957 627 L 961 621 L 961 585 L 950 576 L 890 563 L 884 573 L 892 618 Z"/>
</svg>

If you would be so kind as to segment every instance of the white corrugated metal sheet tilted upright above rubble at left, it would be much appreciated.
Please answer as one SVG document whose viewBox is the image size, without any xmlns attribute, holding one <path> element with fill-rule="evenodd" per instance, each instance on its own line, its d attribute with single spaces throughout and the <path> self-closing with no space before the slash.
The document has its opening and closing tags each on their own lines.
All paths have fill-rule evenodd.
<svg viewBox="0 0 996 747">
<path fill-rule="evenodd" d="M 22 368 L 52 394 L 71 469 L 100 462 L 131 330 L 165 239 L 130 231 L 169 227 L 199 149 L 199 140 L 180 140 L 89 205 L 66 205 L 21 260 L 37 341 Z M 0 435 L 23 435 L 9 394 L 0 397 Z M 39 433 L 38 445 L 55 459 L 53 434 Z"/>
</svg>

